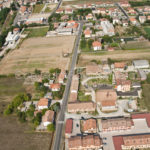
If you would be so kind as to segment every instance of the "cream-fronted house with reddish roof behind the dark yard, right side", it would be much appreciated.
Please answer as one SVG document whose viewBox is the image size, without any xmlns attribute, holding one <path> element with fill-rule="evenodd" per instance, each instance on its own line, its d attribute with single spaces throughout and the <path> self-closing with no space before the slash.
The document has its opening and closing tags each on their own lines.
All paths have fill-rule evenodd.
<svg viewBox="0 0 150 150">
<path fill-rule="evenodd" d="M 130 80 L 116 80 L 116 89 L 121 92 L 128 92 L 131 89 L 131 81 Z"/>
</svg>

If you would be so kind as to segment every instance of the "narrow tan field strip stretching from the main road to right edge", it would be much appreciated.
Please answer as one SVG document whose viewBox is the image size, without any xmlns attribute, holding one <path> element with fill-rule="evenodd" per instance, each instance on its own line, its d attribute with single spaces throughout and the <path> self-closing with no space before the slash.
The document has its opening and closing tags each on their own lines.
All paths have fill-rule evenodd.
<svg viewBox="0 0 150 150">
<path fill-rule="evenodd" d="M 150 59 L 150 49 L 147 50 L 116 50 L 114 52 L 82 53 L 80 54 L 78 66 L 85 66 L 92 60 L 103 59 L 132 60 Z"/>
</svg>

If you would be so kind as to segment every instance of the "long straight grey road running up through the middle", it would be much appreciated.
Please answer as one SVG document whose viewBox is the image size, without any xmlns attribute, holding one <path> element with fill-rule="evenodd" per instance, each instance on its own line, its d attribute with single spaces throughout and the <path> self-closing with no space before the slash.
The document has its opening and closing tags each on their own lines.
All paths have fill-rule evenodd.
<svg viewBox="0 0 150 150">
<path fill-rule="evenodd" d="M 57 123 L 56 123 L 56 133 L 55 133 L 55 139 L 54 139 L 54 144 L 52 149 L 53 150 L 59 150 L 60 149 L 60 143 L 61 143 L 61 138 L 62 138 L 62 130 L 63 130 L 63 125 L 64 125 L 64 119 L 65 119 L 65 111 L 68 103 L 68 97 L 69 97 L 69 92 L 70 92 L 70 86 L 72 82 L 72 77 L 74 75 L 74 69 L 76 66 L 77 62 L 77 57 L 78 57 L 78 46 L 80 42 L 80 37 L 82 33 L 82 28 L 83 28 L 83 22 L 80 23 L 78 35 L 76 37 L 75 45 L 74 45 L 74 50 L 73 50 L 73 55 L 72 55 L 72 62 L 71 62 L 71 67 L 70 71 L 68 74 L 68 79 L 67 79 L 67 84 L 64 92 L 64 97 L 63 97 L 63 103 L 61 110 L 58 115 Z"/>
</svg>

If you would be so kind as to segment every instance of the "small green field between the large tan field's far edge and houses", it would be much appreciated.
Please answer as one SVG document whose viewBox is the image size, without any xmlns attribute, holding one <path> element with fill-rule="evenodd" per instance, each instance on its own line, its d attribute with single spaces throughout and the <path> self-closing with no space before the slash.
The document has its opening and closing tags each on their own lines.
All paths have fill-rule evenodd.
<svg viewBox="0 0 150 150">
<path fill-rule="evenodd" d="M 25 29 L 24 33 L 28 33 L 28 38 L 31 37 L 44 37 L 46 36 L 46 33 L 48 31 L 48 27 L 42 27 L 42 28 L 30 28 Z"/>
</svg>

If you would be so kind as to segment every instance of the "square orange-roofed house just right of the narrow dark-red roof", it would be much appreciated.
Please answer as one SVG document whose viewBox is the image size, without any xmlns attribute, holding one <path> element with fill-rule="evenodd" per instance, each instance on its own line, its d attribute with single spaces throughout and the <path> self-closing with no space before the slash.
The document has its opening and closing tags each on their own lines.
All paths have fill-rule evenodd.
<svg viewBox="0 0 150 150">
<path fill-rule="evenodd" d="M 81 120 L 81 129 L 84 133 L 96 133 L 97 132 L 97 124 L 96 119 L 87 119 Z"/>
</svg>

